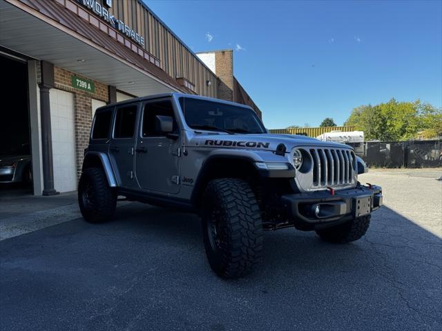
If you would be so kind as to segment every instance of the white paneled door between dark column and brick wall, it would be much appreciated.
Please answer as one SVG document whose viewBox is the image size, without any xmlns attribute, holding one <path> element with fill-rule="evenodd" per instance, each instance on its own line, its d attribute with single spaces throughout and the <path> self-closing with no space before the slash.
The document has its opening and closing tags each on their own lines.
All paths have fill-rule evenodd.
<svg viewBox="0 0 442 331">
<path fill-rule="evenodd" d="M 52 88 L 49 98 L 54 187 L 59 192 L 75 191 L 77 190 L 77 162 L 75 159 L 74 94 Z"/>
</svg>

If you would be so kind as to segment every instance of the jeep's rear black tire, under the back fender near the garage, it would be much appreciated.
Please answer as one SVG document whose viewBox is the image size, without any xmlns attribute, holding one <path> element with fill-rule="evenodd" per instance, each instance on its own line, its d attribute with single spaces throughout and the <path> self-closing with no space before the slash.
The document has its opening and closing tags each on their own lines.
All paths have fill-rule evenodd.
<svg viewBox="0 0 442 331">
<path fill-rule="evenodd" d="M 81 174 L 78 204 L 84 219 L 90 223 L 103 223 L 113 218 L 117 207 L 117 194 L 108 185 L 102 169 L 87 168 Z"/>
</svg>

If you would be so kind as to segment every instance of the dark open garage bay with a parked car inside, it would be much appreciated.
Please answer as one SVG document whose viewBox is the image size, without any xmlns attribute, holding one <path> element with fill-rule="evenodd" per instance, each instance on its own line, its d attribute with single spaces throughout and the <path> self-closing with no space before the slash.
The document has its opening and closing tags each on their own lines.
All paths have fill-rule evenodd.
<svg viewBox="0 0 442 331">
<path fill-rule="evenodd" d="M 28 66 L 0 56 L 0 197 L 32 194 Z"/>
</svg>

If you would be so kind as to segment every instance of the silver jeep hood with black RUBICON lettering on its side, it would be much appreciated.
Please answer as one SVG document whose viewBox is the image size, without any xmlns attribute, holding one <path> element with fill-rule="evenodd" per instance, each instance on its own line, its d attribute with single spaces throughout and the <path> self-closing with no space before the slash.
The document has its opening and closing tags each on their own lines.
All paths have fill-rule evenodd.
<svg viewBox="0 0 442 331">
<path fill-rule="evenodd" d="M 329 148 L 349 148 L 343 143 L 320 141 L 316 138 L 298 136 L 296 134 L 195 134 L 189 141 L 190 146 L 213 148 L 246 148 L 269 150 L 274 152 L 280 144 L 285 144 L 287 152 L 297 146 L 324 146 Z"/>
</svg>

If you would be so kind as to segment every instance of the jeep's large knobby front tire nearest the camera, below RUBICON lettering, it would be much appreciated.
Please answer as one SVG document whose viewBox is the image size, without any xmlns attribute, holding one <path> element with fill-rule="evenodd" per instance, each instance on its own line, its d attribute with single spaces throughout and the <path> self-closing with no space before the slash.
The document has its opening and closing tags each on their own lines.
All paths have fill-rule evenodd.
<svg viewBox="0 0 442 331">
<path fill-rule="evenodd" d="M 246 181 L 214 179 L 207 185 L 202 232 L 207 259 L 220 277 L 243 277 L 260 262 L 262 219 Z"/>
</svg>

